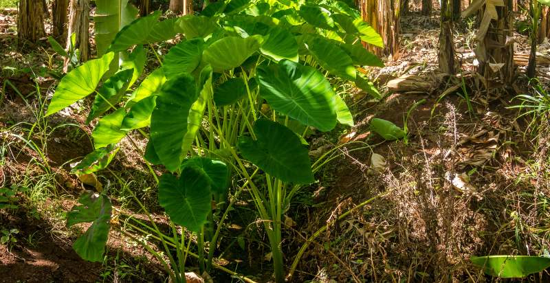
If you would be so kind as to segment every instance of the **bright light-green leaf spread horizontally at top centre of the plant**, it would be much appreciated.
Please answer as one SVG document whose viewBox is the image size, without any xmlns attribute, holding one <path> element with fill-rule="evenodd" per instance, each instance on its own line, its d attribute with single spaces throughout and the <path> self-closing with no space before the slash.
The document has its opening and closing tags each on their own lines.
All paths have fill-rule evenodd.
<svg viewBox="0 0 550 283">
<path fill-rule="evenodd" d="M 221 38 L 204 50 L 203 60 L 217 72 L 233 69 L 241 66 L 248 57 L 257 52 L 262 42 L 262 36 L 258 35 Z"/>
</svg>

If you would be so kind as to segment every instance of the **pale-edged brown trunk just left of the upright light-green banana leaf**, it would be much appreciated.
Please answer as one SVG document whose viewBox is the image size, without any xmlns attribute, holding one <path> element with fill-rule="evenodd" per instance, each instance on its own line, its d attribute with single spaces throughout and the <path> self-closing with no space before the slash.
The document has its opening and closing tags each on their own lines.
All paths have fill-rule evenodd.
<svg viewBox="0 0 550 283">
<path fill-rule="evenodd" d="M 89 0 L 71 0 L 69 25 L 67 34 L 67 49 L 71 45 L 71 34 L 76 34 L 75 48 L 80 51 L 80 62 L 89 59 Z M 65 60 L 65 68 L 68 60 Z"/>
</svg>

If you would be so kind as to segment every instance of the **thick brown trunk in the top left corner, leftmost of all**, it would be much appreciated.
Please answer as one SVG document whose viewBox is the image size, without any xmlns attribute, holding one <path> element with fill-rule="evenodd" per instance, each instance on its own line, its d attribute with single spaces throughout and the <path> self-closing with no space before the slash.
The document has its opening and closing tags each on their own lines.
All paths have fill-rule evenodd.
<svg viewBox="0 0 550 283">
<path fill-rule="evenodd" d="M 45 36 L 44 10 L 42 0 L 20 0 L 19 16 L 17 17 L 17 36 L 20 43 L 30 41 L 36 43 Z"/>
</svg>

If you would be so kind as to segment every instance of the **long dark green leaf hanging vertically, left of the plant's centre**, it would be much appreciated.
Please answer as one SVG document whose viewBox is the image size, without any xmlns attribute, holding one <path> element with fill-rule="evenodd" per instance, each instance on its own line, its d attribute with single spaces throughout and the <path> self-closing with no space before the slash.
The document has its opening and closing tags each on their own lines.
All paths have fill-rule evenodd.
<svg viewBox="0 0 550 283">
<path fill-rule="evenodd" d="M 168 80 L 151 115 L 151 139 L 160 161 L 175 171 L 187 154 L 184 137 L 188 131 L 191 106 L 197 101 L 195 80 L 184 73 Z"/>
</svg>

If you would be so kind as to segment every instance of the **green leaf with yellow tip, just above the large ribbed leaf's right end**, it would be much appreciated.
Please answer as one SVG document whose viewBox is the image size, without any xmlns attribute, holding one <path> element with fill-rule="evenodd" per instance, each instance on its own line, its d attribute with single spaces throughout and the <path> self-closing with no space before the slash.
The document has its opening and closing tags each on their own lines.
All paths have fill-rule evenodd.
<svg viewBox="0 0 550 283">
<path fill-rule="evenodd" d="M 347 80 L 355 80 L 355 68 L 351 57 L 325 38 L 314 38 L 307 43 L 307 49 L 313 54 L 321 67 L 335 76 Z"/>
</svg>

